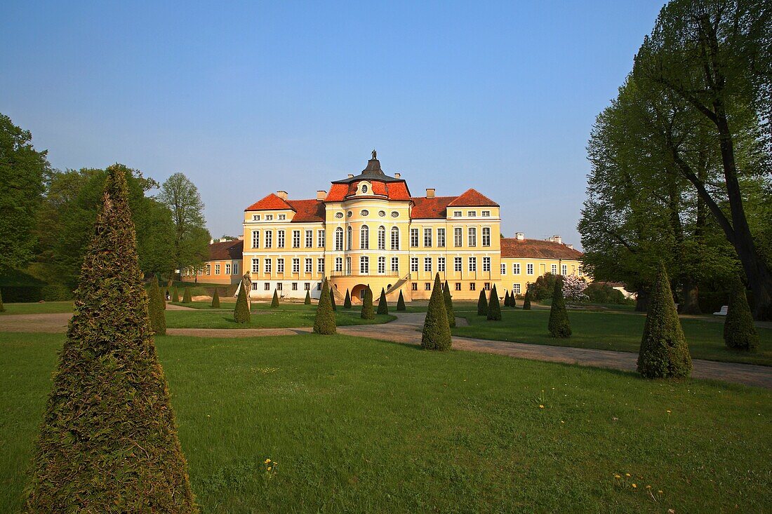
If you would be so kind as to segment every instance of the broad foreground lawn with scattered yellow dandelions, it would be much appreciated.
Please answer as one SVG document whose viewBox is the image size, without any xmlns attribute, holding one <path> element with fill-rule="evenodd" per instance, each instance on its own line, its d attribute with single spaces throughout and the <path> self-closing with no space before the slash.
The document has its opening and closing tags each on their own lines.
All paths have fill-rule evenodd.
<svg viewBox="0 0 772 514">
<path fill-rule="evenodd" d="M 0 334 L 0 512 L 62 341 Z M 157 347 L 205 513 L 769 509 L 769 391 L 346 336 Z"/>
</svg>

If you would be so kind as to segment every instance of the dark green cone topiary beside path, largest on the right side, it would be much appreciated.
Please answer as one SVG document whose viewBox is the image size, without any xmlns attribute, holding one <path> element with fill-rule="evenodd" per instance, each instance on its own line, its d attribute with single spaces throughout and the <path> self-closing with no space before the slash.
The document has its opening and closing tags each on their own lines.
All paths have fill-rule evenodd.
<svg viewBox="0 0 772 514">
<path fill-rule="evenodd" d="M 638 352 L 638 373 L 646 378 L 689 377 L 692 357 L 662 263 L 650 295 Z"/>
</svg>

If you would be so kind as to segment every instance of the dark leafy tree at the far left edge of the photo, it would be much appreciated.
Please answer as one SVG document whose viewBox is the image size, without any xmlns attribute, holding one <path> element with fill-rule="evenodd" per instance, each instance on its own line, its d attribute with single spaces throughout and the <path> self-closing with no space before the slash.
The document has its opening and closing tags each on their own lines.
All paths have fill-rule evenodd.
<svg viewBox="0 0 772 514">
<path fill-rule="evenodd" d="M 0 114 L 0 273 L 24 267 L 34 256 L 35 219 L 49 174 L 46 151 L 32 146 L 29 130 Z"/>
</svg>

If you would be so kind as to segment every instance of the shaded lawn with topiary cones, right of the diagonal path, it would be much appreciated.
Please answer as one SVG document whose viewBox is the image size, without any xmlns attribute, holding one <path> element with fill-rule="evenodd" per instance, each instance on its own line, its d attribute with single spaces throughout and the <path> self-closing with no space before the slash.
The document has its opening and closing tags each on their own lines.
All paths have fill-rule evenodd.
<svg viewBox="0 0 772 514">
<path fill-rule="evenodd" d="M 452 330 L 454 336 L 636 353 L 646 320 L 641 314 L 570 309 L 568 319 L 573 335 L 569 339 L 554 339 L 547 331 L 548 310 L 502 309 L 501 321 L 488 321 L 476 313 L 459 316 L 466 317 L 469 326 L 456 327 Z M 694 358 L 772 366 L 772 330 L 758 329 L 759 351 L 741 353 L 724 345 L 720 321 L 684 318 L 681 325 Z"/>
</svg>

